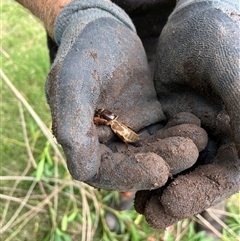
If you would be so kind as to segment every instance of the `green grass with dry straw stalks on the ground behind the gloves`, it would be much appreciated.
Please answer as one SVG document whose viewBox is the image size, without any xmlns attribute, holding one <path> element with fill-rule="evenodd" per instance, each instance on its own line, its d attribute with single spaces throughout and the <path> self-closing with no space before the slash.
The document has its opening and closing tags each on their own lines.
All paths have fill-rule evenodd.
<svg viewBox="0 0 240 241">
<path fill-rule="evenodd" d="M 16 90 L 1 82 L 0 239 L 210 240 L 204 233 L 195 233 L 196 218 L 155 230 L 133 208 L 123 212 L 111 209 L 108 201 L 117 200 L 117 192 L 97 191 L 72 180 L 50 132 L 44 93 L 50 67 L 46 33 L 41 23 L 13 0 L 1 3 L 1 14 L 1 74 Z M 221 240 L 236 240 L 240 235 L 239 201 L 237 194 L 226 202 L 225 225 L 230 231 L 225 229 Z M 108 229 L 107 211 L 117 216 L 121 234 Z"/>
</svg>

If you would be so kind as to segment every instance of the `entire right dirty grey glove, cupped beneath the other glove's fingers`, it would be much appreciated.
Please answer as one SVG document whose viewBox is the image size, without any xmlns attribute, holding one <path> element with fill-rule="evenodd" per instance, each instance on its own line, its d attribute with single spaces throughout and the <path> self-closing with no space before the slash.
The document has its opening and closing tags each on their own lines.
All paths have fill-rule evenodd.
<svg viewBox="0 0 240 241">
<path fill-rule="evenodd" d="M 167 118 L 182 110 L 194 113 L 211 138 L 195 170 L 136 194 L 136 210 L 155 228 L 239 190 L 239 13 L 238 0 L 181 0 L 161 33 L 154 78 L 164 113 Z"/>
</svg>

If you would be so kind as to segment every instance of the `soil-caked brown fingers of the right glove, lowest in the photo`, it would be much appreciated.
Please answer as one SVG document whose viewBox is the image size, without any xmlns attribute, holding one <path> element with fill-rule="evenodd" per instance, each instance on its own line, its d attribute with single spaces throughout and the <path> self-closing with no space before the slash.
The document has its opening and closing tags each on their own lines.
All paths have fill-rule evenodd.
<svg viewBox="0 0 240 241">
<path fill-rule="evenodd" d="M 240 161 L 233 143 L 219 148 L 211 164 L 199 165 L 153 191 L 138 191 L 134 206 L 154 228 L 164 229 L 177 221 L 220 203 L 239 191 Z"/>
</svg>

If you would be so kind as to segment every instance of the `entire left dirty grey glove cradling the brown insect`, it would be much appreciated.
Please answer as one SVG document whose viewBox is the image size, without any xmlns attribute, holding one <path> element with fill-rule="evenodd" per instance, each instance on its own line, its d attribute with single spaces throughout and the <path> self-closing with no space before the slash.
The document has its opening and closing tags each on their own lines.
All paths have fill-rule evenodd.
<svg viewBox="0 0 240 241">
<path fill-rule="evenodd" d="M 46 95 L 53 134 L 75 179 L 106 190 L 149 190 L 196 162 L 207 143 L 206 132 L 198 125 L 189 135 L 199 133 L 195 139 L 204 139 L 201 146 L 187 136 L 174 137 L 179 136 L 174 129 L 165 136 L 173 137 L 154 139 L 153 147 L 146 139 L 139 147 L 122 151 L 119 140 L 113 141 L 112 149 L 105 145 L 113 137 L 109 126 L 93 122 L 101 108 L 135 131 L 165 120 L 141 41 L 120 8 L 106 1 L 73 1 L 57 17 L 55 40 L 59 50 Z"/>
</svg>

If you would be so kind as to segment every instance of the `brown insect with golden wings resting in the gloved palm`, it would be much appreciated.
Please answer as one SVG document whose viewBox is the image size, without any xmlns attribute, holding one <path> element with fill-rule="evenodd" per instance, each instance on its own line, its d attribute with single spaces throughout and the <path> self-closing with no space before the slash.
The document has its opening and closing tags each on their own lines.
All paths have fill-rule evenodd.
<svg viewBox="0 0 240 241">
<path fill-rule="evenodd" d="M 111 111 L 98 109 L 93 122 L 95 124 L 109 125 L 112 131 L 125 143 L 137 142 L 140 138 L 137 133 L 117 120 L 118 116 Z"/>
</svg>

